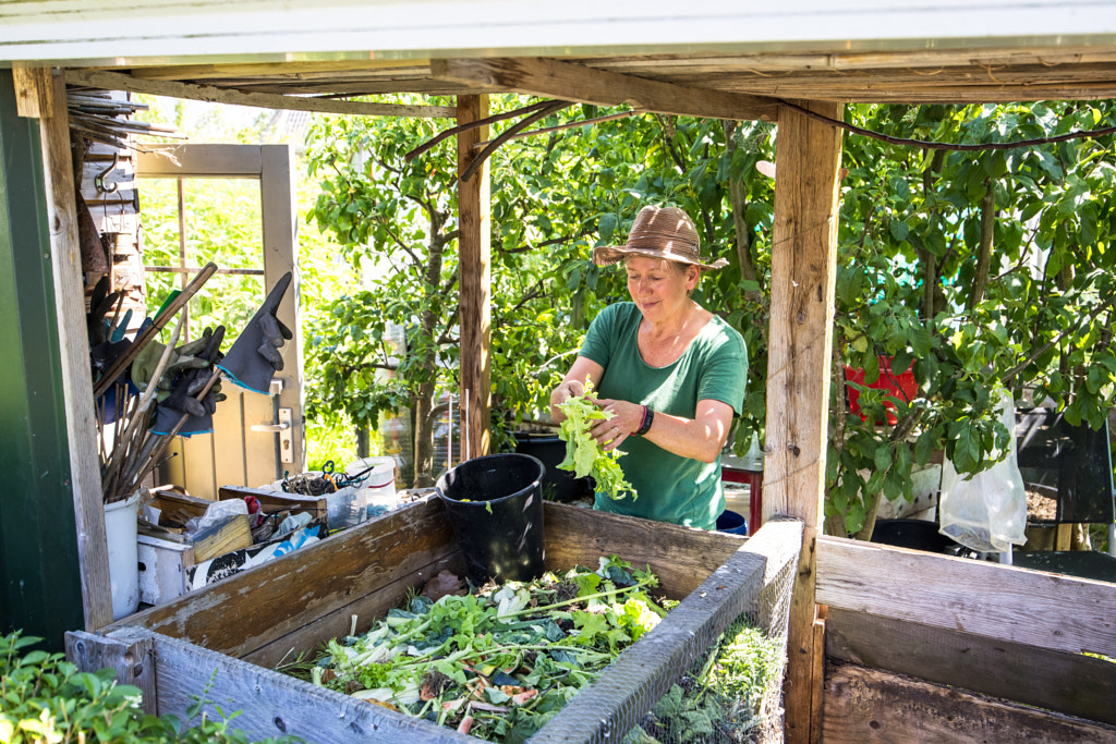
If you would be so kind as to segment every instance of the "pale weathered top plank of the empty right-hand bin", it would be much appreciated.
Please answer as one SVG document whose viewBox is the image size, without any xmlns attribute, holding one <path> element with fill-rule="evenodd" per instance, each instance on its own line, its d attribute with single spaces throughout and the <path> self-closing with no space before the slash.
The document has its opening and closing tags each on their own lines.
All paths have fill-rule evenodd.
<svg viewBox="0 0 1116 744">
<path fill-rule="evenodd" d="M 830 611 L 1116 657 L 1116 584 L 1104 581 L 822 537 L 817 600 Z"/>
</svg>

